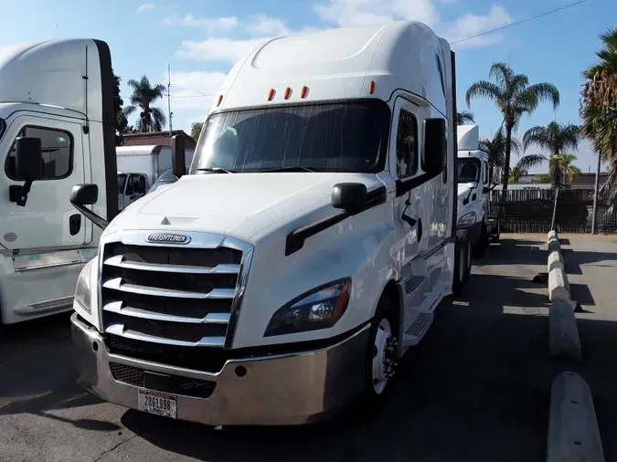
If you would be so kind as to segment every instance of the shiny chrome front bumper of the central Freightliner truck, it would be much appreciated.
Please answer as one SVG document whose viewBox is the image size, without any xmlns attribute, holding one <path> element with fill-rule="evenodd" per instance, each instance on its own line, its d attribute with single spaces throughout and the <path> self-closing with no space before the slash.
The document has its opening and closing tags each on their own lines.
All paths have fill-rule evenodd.
<svg viewBox="0 0 617 462">
<path fill-rule="evenodd" d="M 110 362 L 215 382 L 207 398 L 177 395 L 177 418 L 207 425 L 302 425 L 336 414 L 361 392 L 368 340 L 366 326 L 322 350 L 228 360 L 219 373 L 205 373 L 112 354 L 77 314 L 71 333 L 78 382 L 105 401 L 137 409 L 139 387 L 114 380 Z"/>
</svg>

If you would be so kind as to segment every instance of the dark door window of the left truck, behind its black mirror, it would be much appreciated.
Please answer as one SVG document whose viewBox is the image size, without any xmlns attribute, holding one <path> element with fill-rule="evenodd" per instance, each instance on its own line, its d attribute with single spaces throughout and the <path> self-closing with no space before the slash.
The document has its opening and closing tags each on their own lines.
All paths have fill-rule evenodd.
<svg viewBox="0 0 617 462">
<path fill-rule="evenodd" d="M 22 136 L 41 140 L 43 153 L 41 180 L 60 180 L 70 175 L 73 170 L 73 138 L 68 131 L 27 125 L 17 134 L 17 137 Z M 11 180 L 23 181 L 16 177 L 15 149 L 14 141 L 6 157 L 5 173 Z"/>
</svg>

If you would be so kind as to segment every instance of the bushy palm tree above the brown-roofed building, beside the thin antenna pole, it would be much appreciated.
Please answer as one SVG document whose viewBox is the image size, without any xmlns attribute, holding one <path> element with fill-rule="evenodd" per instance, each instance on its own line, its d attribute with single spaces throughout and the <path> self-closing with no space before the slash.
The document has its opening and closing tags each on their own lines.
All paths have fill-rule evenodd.
<svg viewBox="0 0 617 462">
<path fill-rule="evenodd" d="M 131 106 L 124 109 L 124 114 L 131 115 L 139 107 L 142 111 L 136 123 L 137 131 L 162 131 L 166 123 L 165 114 L 163 110 L 154 108 L 152 103 L 163 98 L 165 85 L 157 83 L 153 87 L 146 76 L 142 76 L 141 80 L 130 79 L 126 83 L 133 89 L 133 94 Z"/>
</svg>

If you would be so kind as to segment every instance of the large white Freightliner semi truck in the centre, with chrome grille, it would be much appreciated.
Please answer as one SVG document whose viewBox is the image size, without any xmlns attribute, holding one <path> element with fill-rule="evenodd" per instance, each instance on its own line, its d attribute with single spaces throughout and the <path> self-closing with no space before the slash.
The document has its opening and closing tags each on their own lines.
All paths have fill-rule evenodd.
<svg viewBox="0 0 617 462">
<path fill-rule="evenodd" d="M 208 425 L 379 404 L 463 283 L 453 65 L 415 22 L 281 37 L 240 59 L 189 174 L 100 221 L 71 318 L 79 382 Z M 71 200 L 96 199 L 80 185 Z"/>
</svg>

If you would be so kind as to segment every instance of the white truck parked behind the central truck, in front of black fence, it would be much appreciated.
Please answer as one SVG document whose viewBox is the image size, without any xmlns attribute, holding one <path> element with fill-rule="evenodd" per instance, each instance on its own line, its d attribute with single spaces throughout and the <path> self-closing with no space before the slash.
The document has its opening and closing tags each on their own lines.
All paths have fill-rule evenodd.
<svg viewBox="0 0 617 462">
<path fill-rule="evenodd" d="M 460 125 L 457 131 L 457 226 L 467 230 L 473 257 L 484 257 L 490 242 L 500 236 L 499 217 L 490 213 L 490 202 L 491 191 L 501 181 L 501 168 L 491 167 L 488 153 L 479 149 L 477 125 Z"/>
</svg>

